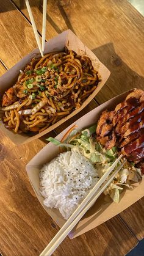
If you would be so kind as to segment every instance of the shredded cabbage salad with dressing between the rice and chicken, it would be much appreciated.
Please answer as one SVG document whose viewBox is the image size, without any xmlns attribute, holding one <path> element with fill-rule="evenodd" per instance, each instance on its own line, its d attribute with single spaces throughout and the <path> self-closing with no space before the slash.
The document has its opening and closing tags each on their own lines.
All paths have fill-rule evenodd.
<svg viewBox="0 0 144 256">
<path fill-rule="evenodd" d="M 99 178 L 103 176 L 109 166 L 118 158 L 117 147 L 112 147 L 110 150 L 105 150 L 103 145 L 96 141 L 96 125 L 90 128 L 79 131 L 74 126 L 73 130 L 70 129 L 70 133 L 62 140 L 62 142 L 49 137 L 47 140 L 60 147 L 65 147 L 67 150 L 76 150 L 83 156 L 89 159 L 89 161 L 96 168 Z M 65 137 L 65 136 L 64 136 Z M 117 169 L 119 163 L 115 167 Z M 114 169 L 114 170 L 115 170 Z M 142 179 L 140 169 L 135 168 L 133 163 L 126 161 L 123 168 L 118 172 L 117 176 L 113 179 L 112 183 L 104 191 L 105 195 L 109 195 L 116 203 L 120 201 L 120 193 L 123 188 L 132 189 L 133 182 L 139 182 Z"/>
</svg>

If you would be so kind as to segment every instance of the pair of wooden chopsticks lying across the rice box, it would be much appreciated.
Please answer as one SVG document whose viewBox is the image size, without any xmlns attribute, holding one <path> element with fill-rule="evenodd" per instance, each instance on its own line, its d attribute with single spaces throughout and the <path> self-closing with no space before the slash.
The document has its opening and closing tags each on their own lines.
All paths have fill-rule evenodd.
<svg viewBox="0 0 144 256">
<path fill-rule="evenodd" d="M 65 237 L 70 233 L 70 231 L 74 228 L 74 226 L 79 222 L 79 220 L 84 216 L 84 214 L 92 207 L 92 205 L 95 203 L 95 201 L 98 199 L 98 197 L 103 193 L 104 189 L 107 188 L 107 186 L 110 184 L 110 182 L 113 180 L 115 175 L 120 171 L 120 169 L 123 167 L 126 160 L 123 161 L 123 163 L 118 166 L 117 170 L 113 172 L 112 175 L 110 175 L 117 166 L 118 162 L 122 158 L 122 155 L 119 156 L 119 158 L 112 164 L 112 166 L 109 167 L 107 172 L 101 177 L 96 183 L 96 185 L 93 187 L 93 189 L 88 193 L 87 197 L 82 201 L 81 205 L 77 207 L 77 209 L 74 211 L 74 213 L 70 216 L 67 222 L 63 225 L 63 227 L 59 230 L 56 236 L 51 240 L 51 242 L 46 246 L 46 248 L 41 252 L 40 256 L 49 256 L 51 255 L 59 246 L 60 243 L 65 239 Z M 110 177 L 109 177 L 110 175 Z M 108 178 L 109 177 L 109 178 Z M 93 197 L 94 196 L 94 197 Z M 92 199 L 93 197 L 93 199 Z M 92 199 L 92 200 L 91 200 Z"/>
</svg>

